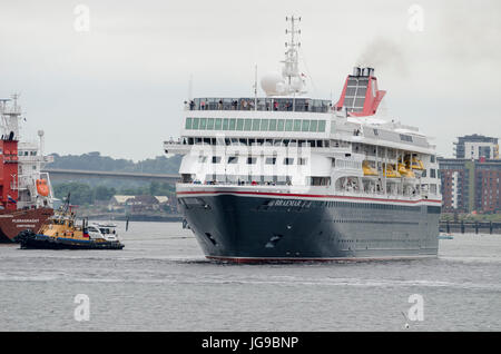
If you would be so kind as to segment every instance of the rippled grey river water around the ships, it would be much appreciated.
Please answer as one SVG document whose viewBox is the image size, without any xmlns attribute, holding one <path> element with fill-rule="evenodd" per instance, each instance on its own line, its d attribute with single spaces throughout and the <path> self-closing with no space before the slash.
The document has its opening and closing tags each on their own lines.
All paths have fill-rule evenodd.
<svg viewBox="0 0 501 354">
<path fill-rule="evenodd" d="M 501 235 L 436 259 L 234 265 L 178 223 L 124 227 L 122 250 L 0 245 L 0 331 L 501 331 Z"/>
</svg>

